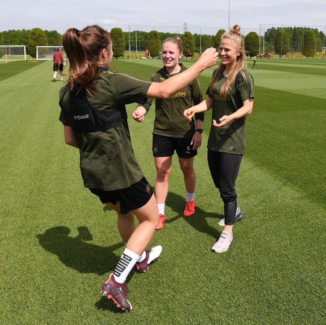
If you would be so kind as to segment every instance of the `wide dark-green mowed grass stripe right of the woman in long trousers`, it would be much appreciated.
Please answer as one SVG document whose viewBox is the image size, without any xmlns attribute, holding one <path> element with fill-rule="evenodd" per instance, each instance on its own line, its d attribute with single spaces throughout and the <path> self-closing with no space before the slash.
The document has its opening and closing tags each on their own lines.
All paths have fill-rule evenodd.
<svg viewBox="0 0 326 325">
<path fill-rule="evenodd" d="M 247 120 L 248 155 L 257 166 L 272 171 L 306 193 L 326 202 L 324 175 L 326 123 L 323 100 L 255 87 L 255 103 Z M 314 119 L 311 119 L 314 116 Z"/>
</svg>

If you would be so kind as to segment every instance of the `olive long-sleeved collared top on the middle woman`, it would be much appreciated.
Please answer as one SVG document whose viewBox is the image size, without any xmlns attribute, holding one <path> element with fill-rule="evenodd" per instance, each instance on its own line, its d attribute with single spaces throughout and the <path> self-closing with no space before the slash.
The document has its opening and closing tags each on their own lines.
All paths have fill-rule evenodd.
<svg viewBox="0 0 326 325">
<path fill-rule="evenodd" d="M 169 74 L 165 67 L 153 74 L 149 80 L 153 82 L 163 82 L 187 68 L 179 63 L 181 70 L 177 73 Z M 148 112 L 152 105 L 152 99 L 148 99 L 145 105 L 141 105 Z M 154 134 L 160 134 L 174 138 L 191 138 L 195 133 L 195 121 L 188 122 L 183 113 L 186 109 L 202 102 L 202 92 L 198 78 L 189 85 L 172 95 L 168 99 L 155 100 L 155 120 Z M 195 115 L 195 119 L 204 120 L 204 113 Z"/>
</svg>

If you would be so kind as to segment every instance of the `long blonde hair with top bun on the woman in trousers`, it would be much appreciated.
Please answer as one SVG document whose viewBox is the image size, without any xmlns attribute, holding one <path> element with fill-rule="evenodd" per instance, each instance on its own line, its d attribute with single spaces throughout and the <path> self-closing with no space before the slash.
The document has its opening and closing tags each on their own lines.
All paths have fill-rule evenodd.
<svg viewBox="0 0 326 325">
<path fill-rule="evenodd" d="M 232 71 L 230 71 L 228 79 L 222 85 L 221 90 L 220 90 L 220 95 L 223 97 L 226 97 L 229 95 L 229 92 L 231 90 L 231 85 L 234 83 L 235 78 L 237 77 L 237 74 L 242 69 L 245 69 L 247 67 L 247 63 L 245 61 L 244 42 L 241 37 L 240 26 L 239 25 L 232 26 L 230 28 L 230 32 L 225 32 L 221 36 L 221 40 L 224 38 L 234 40 L 234 42 L 236 44 L 236 50 L 240 53 L 240 55 L 237 56 L 237 61 L 236 61 L 236 65 L 234 66 L 234 69 Z M 213 87 L 215 81 L 220 77 L 220 75 L 223 73 L 225 68 L 226 68 L 225 65 L 223 65 L 221 62 L 212 78 L 211 83 L 210 83 L 209 87 L 210 87 L 211 92 L 212 92 L 212 87 Z"/>
</svg>

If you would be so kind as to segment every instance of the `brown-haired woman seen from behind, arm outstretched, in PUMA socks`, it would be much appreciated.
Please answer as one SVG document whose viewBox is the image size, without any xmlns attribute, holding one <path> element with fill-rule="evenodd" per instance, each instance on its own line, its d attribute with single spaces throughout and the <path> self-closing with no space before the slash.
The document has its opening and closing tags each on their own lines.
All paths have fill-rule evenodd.
<svg viewBox="0 0 326 325">
<path fill-rule="evenodd" d="M 60 90 L 66 144 L 79 148 L 84 186 L 118 214 L 118 230 L 126 249 L 109 279 L 103 295 L 118 307 L 132 309 L 126 294 L 126 277 L 136 265 L 145 272 L 162 246 L 147 251 L 159 220 L 155 196 L 137 163 L 131 146 L 125 104 L 144 103 L 147 97 L 168 98 L 200 72 L 216 62 L 215 49 L 208 49 L 185 72 L 164 83 L 110 71 L 112 42 L 99 26 L 82 31 L 68 29 L 62 37 L 69 60 L 69 80 Z M 135 227 L 134 216 L 139 220 Z M 106 229 L 105 229 L 106 231 Z"/>
</svg>

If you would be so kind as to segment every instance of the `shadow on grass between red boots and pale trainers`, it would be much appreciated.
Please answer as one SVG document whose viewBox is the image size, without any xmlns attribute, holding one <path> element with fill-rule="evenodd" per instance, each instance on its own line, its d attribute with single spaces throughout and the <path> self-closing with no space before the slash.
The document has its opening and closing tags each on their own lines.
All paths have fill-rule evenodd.
<svg viewBox="0 0 326 325">
<path fill-rule="evenodd" d="M 221 204 L 223 204 L 222 201 Z M 218 240 L 218 238 L 220 237 L 223 228 L 218 225 L 218 222 L 222 218 L 224 218 L 224 215 L 212 213 L 212 212 L 206 212 L 200 209 L 198 206 L 196 206 L 196 213 L 189 217 L 185 217 L 183 215 L 183 211 L 185 209 L 185 198 L 173 192 L 168 193 L 166 205 L 170 207 L 173 211 L 178 213 L 176 217 L 167 219 L 165 221 L 166 224 L 170 224 L 179 218 L 184 218 L 188 224 L 190 224 L 192 227 L 194 227 L 196 230 L 200 231 L 201 233 L 212 236 L 216 240 Z M 210 226 L 206 220 L 207 218 L 216 219 L 216 227 Z"/>
</svg>

